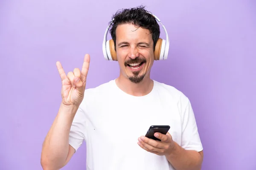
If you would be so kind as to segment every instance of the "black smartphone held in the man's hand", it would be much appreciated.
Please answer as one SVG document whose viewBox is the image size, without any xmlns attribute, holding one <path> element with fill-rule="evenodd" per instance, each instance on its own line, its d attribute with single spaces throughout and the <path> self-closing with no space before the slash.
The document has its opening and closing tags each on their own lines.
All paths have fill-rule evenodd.
<svg viewBox="0 0 256 170">
<path fill-rule="evenodd" d="M 160 139 L 158 139 L 154 136 L 154 133 L 159 132 L 159 133 L 166 135 L 166 133 L 168 132 L 169 129 L 170 129 L 169 125 L 152 125 L 149 127 L 145 137 L 154 139 L 156 141 L 161 141 Z"/>
</svg>

